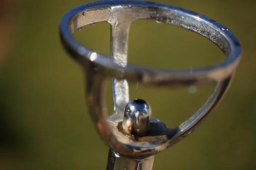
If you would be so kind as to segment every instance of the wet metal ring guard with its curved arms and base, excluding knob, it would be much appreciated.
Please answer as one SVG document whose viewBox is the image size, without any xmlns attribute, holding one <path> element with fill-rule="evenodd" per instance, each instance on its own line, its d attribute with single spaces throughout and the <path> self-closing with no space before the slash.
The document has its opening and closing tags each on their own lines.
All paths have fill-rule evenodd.
<svg viewBox="0 0 256 170">
<path fill-rule="evenodd" d="M 193 69 L 192 72 L 190 68 L 163 70 L 131 65 L 127 62 L 128 32 L 131 23 L 139 19 L 155 20 L 194 31 L 215 43 L 226 58 L 220 64 Z M 102 21 L 111 24 L 112 59 L 91 51 L 72 37 L 77 29 Z M 85 70 L 87 105 L 96 129 L 111 150 L 129 159 L 153 156 L 191 134 L 224 96 L 241 58 L 239 40 L 227 27 L 193 11 L 162 3 L 125 0 L 87 3 L 68 11 L 61 20 L 59 30 L 64 49 Z M 115 109 L 109 117 L 103 109 L 105 77 L 113 77 Z M 204 105 L 178 127 L 169 129 L 163 122 L 151 117 L 148 133 L 133 138 L 122 130 L 123 112 L 129 102 L 127 80 L 144 86 L 169 88 L 216 82 L 217 86 Z"/>
</svg>

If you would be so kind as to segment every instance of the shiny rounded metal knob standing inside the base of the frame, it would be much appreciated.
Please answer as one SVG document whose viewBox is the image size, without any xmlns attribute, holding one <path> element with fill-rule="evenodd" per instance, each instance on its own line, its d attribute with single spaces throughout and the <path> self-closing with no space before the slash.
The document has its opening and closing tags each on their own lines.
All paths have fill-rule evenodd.
<svg viewBox="0 0 256 170">
<path fill-rule="evenodd" d="M 134 136 L 145 136 L 150 127 L 151 108 L 143 99 L 134 99 L 125 106 L 122 129 Z"/>
</svg>

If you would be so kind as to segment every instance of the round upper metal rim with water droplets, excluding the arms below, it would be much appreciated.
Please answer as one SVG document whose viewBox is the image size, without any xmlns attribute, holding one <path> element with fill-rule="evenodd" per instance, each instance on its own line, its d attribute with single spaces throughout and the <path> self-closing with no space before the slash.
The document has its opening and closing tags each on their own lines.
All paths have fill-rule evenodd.
<svg viewBox="0 0 256 170">
<path fill-rule="evenodd" d="M 114 8 L 110 10 L 108 6 L 118 7 L 129 5 L 134 6 L 133 8 L 126 9 L 130 9 L 129 13 L 134 13 L 134 18 L 131 18 L 131 22 L 143 18 L 152 20 L 161 20 L 162 18 L 161 22 L 170 23 L 194 31 L 218 45 L 226 55 L 225 61 L 218 65 L 206 68 L 193 69 L 192 73 L 190 69 L 152 69 L 143 68 L 142 66 L 132 65 L 129 63 L 123 67 L 122 65 L 113 62 L 112 59 L 85 48 L 72 37 L 72 33 L 82 26 L 102 21 L 108 21 L 109 23 L 113 22 L 111 21 L 112 18 L 105 18 L 105 16 L 101 16 L 100 14 L 98 14 L 99 17 L 92 17 L 92 15 L 97 15 L 97 13 L 93 12 L 93 8 L 98 8 L 102 11 L 108 10 L 108 12 L 111 12 Z M 138 9 L 136 9 L 136 7 L 138 7 Z M 157 8 L 160 9 L 160 11 L 151 13 L 151 10 L 146 11 L 146 8 Z M 87 15 L 83 15 L 84 12 L 87 12 Z M 86 17 L 89 16 L 88 14 L 90 13 L 90 18 Z M 230 30 L 227 29 L 226 26 L 201 14 L 162 3 L 122 0 L 87 3 L 68 11 L 62 18 L 59 28 L 61 39 L 65 46 L 69 48 L 68 52 L 71 53 L 71 56 L 80 60 L 80 62 L 95 63 L 100 74 L 139 81 L 142 85 L 192 85 L 195 83 L 219 81 L 232 74 L 239 63 L 241 54 L 241 45 L 239 40 Z M 91 57 L 92 54 L 93 57 Z M 117 72 L 121 72 L 122 76 L 118 77 L 116 74 Z"/>
</svg>

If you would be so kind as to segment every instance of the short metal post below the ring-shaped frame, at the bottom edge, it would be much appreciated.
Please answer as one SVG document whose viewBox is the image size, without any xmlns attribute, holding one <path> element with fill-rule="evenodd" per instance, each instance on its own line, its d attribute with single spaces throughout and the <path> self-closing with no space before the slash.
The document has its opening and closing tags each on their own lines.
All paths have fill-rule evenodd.
<svg viewBox="0 0 256 170">
<path fill-rule="evenodd" d="M 129 159 L 109 150 L 107 170 L 152 170 L 153 163 L 154 156 L 141 160 Z"/>
</svg>

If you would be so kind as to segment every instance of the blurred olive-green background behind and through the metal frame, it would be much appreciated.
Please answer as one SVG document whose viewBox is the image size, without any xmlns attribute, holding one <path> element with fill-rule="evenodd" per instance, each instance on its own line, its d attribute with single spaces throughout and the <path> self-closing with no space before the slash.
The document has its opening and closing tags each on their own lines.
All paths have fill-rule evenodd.
<svg viewBox="0 0 256 170">
<path fill-rule="evenodd" d="M 256 168 L 256 32 L 253 0 L 156 0 L 204 14 L 239 38 L 243 58 L 220 105 L 192 135 L 155 157 L 154 170 Z M 12 43 L 0 76 L 0 169 L 105 169 L 108 148 L 96 134 L 84 100 L 82 69 L 64 52 L 58 24 L 87 0 L 20 1 Z M 74 36 L 110 54 L 110 26 L 96 23 Z M 1 49 L 1 48 L 0 48 Z M 196 68 L 224 59 L 205 38 L 175 26 L 140 20 L 132 24 L 128 61 L 162 68 Z M 106 107 L 113 112 L 111 83 Z M 149 102 L 152 115 L 176 127 L 205 102 L 214 86 L 146 88 L 130 84 L 130 99 Z"/>
</svg>

